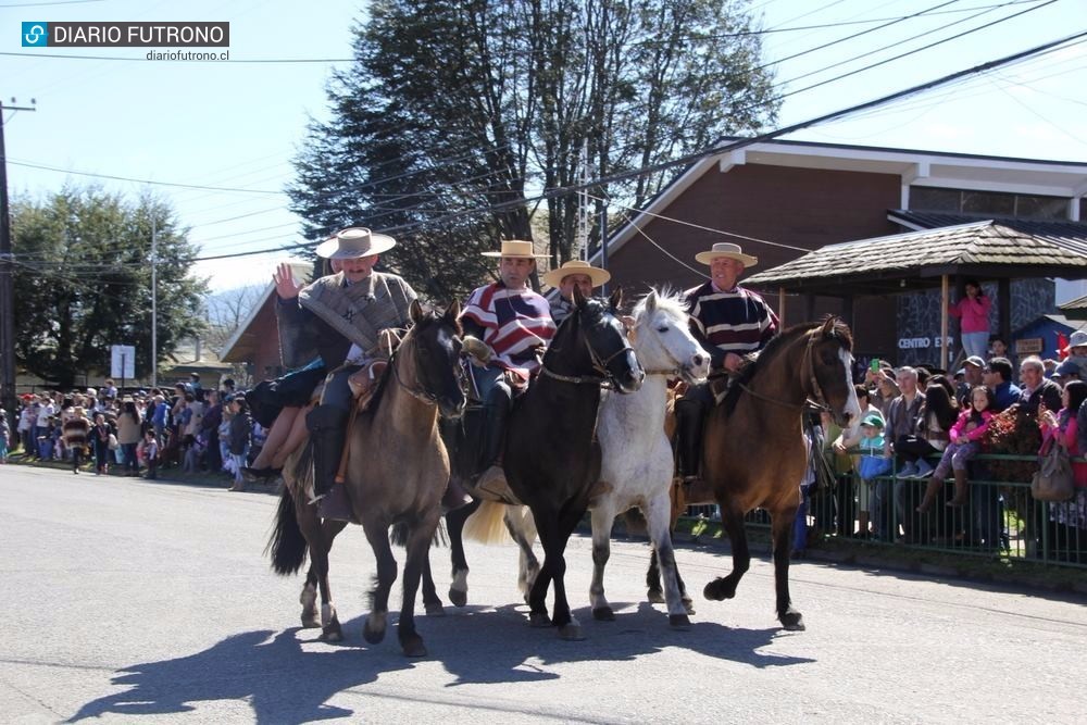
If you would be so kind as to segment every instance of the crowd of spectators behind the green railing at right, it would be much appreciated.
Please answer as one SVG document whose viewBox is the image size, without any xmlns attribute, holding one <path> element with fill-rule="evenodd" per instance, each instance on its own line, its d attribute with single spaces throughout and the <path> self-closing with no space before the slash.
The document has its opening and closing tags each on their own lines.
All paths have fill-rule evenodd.
<svg viewBox="0 0 1087 725">
<path fill-rule="evenodd" d="M 846 430 L 823 421 L 837 473 L 854 474 L 855 488 L 838 491 L 839 534 L 907 543 L 953 536 L 1000 546 L 1004 502 L 999 487 L 969 484 L 988 473 L 974 459 L 985 452 L 992 416 L 1013 405 L 1016 420 L 1037 426 L 1044 443 L 1052 439 L 1073 458 L 1087 451 L 1087 333 L 1070 342 L 1063 362 L 1030 355 L 1017 365 L 1001 342 L 951 374 L 874 361 L 858 385 L 861 421 Z M 1076 496 L 1050 504 L 1049 518 L 1051 539 L 1079 551 L 1087 550 L 1087 463 L 1073 470 Z"/>
</svg>

